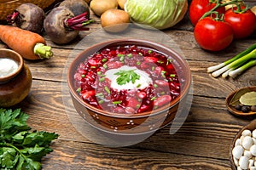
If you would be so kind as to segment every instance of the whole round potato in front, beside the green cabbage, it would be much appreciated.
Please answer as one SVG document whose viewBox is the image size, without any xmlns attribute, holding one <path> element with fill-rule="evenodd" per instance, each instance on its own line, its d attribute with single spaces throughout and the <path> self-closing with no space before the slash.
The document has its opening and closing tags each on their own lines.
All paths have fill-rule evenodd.
<svg viewBox="0 0 256 170">
<path fill-rule="evenodd" d="M 105 31 L 124 31 L 130 23 L 129 14 L 121 9 L 108 9 L 101 16 L 102 27 Z"/>
</svg>

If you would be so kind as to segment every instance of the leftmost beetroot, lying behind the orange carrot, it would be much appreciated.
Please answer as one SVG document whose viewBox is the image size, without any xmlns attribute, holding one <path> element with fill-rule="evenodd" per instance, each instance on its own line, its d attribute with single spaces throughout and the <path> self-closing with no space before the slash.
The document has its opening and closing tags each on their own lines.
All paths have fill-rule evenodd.
<svg viewBox="0 0 256 170">
<path fill-rule="evenodd" d="M 13 14 L 7 16 L 7 21 L 23 30 L 40 33 L 44 26 L 44 10 L 33 3 L 22 3 Z"/>
</svg>

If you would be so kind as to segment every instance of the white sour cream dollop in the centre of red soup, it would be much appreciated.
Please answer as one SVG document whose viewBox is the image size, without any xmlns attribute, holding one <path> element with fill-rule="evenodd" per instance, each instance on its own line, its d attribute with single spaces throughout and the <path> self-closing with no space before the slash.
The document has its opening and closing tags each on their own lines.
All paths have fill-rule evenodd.
<svg viewBox="0 0 256 170">
<path fill-rule="evenodd" d="M 119 75 L 115 75 L 115 73 L 119 71 L 131 71 L 133 70 L 138 76 L 139 79 L 137 79 L 134 83 L 127 82 L 125 84 L 119 85 L 117 82 L 117 78 Z M 118 69 L 110 69 L 105 72 L 106 77 L 111 81 L 110 87 L 117 90 L 133 90 L 133 89 L 144 89 L 147 88 L 150 84 L 153 83 L 152 79 L 149 77 L 148 73 L 145 71 L 141 71 L 137 69 L 137 67 L 133 66 L 127 66 L 123 65 L 119 67 Z"/>
</svg>

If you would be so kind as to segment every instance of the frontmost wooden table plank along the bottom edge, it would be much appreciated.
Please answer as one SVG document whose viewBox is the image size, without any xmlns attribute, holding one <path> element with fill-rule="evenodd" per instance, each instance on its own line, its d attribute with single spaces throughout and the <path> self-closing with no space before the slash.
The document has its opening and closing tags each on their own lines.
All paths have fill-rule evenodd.
<svg viewBox="0 0 256 170">
<path fill-rule="evenodd" d="M 44 169 L 230 169 L 228 160 L 58 140 Z"/>
</svg>

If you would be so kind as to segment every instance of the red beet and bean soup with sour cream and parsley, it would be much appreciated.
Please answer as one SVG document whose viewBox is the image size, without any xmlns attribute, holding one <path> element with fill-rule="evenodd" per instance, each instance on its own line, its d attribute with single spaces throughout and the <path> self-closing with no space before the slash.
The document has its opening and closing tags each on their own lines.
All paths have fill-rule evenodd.
<svg viewBox="0 0 256 170">
<path fill-rule="evenodd" d="M 172 56 L 135 45 L 92 54 L 78 65 L 74 80 L 84 102 L 114 113 L 152 111 L 180 94 Z"/>
</svg>

